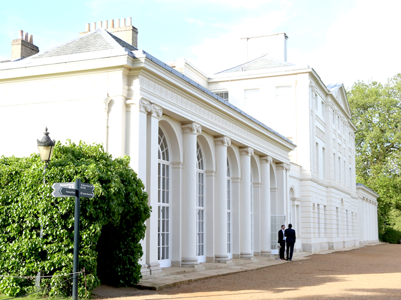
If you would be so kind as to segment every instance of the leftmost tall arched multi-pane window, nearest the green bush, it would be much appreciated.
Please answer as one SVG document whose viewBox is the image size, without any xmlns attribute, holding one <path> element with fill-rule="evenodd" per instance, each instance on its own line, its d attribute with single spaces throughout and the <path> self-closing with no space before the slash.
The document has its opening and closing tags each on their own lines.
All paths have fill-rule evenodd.
<svg viewBox="0 0 401 300">
<path fill-rule="evenodd" d="M 158 261 L 161 267 L 171 266 L 171 158 L 168 140 L 159 127 L 158 147 Z"/>
</svg>

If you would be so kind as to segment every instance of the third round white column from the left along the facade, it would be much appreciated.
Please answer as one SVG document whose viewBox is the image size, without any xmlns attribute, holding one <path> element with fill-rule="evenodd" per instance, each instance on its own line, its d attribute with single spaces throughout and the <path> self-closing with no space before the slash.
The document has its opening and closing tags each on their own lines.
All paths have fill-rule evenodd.
<svg viewBox="0 0 401 300">
<path fill-rule="evenodd" d="M 251 156 L 254 149 L 240 148 L 241 183 L 240 183 L 240 257 L 254 256 L 251 246 Z"/>
</svg>

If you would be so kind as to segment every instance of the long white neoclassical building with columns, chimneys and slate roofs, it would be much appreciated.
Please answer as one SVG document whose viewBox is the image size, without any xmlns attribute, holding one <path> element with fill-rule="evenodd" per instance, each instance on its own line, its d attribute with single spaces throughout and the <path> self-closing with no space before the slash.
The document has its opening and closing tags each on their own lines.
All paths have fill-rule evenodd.
<svg viewBox="0 0 401 300">
<path fill-rule="evenodd" d="M 282 60 L 249 51 L 209 77 L 139 50 L 130 18 L 95 27 L 42 52 L 23 33 L 13 41 L 0 125 L 14 146 L 0 155 L 35 152 L 45 126 L 129 155 L 152 206 L 143 274 L 271 255 L 289 222 L 297 251 L 377 241 L 377 194 L 355 184 L 344 87 L 286 62 L 285 34 L 274 36 Z"/>
</svg>

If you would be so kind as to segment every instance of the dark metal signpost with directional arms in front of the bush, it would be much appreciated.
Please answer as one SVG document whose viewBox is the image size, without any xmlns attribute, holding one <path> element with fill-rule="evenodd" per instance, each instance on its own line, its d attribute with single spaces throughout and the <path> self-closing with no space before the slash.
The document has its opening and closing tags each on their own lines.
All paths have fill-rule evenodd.
<svg viewBox="0 0 401 300">
<path fill-rule="evenodd" d="M 75 212 L 74 212 L 74 265 L 72 279 L 72 298 L 78 299 L 78 253 L 79 253 L 79 198 L 92 198 L 95 196 L 93 184 L 81 183 L 81 179 L 75 182 L 56 182 L 53 183 L 54 197 L 74 197 L 75 196 Z"/>
</svg>

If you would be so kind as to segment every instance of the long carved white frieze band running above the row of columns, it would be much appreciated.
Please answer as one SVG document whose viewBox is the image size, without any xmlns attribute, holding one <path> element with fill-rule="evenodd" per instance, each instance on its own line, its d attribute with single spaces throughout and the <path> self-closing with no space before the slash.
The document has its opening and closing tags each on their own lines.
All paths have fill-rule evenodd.
<svg viewBox="0 0 401 300">
<path fill-rule="evenodd" d="M 255 144 L 260 144 L 261 146 L 268 148 L 270 150 L 269 152 L 278 153 L 284 157 L 288 155 L 287 151 L 279 148 L 278 146 L 275 146 L 271 142 L 268 142 L 266 139 L 253 134 L 249 130 L 246 130 L 243 127 L 234 124 L 233 122 L 213 113 L 208 109 L 200 107 L 199 105 L 196 105 L 193 102 L 184 99 L 183 97 L 177 95 L 176 93 L 169 91 L 168 89 L 146 79 L 143 76 L 139 76 L 139 84 L 141 88 L 147 89 L 155 93 L 156 95 L 163 97 L 166 100 L 171 101 L 172 103 L 175 103 L 181 109 L 186 109 L 187 111 L 190 111 L 193 114 L 196 114 L 209 120 L 211 123 L 215 123 L 219 126 L 227 128 L 232 132 L 235 132 L 239 136 L 243 136 L 249 140 L 252 140 Z"/>
</svg>

